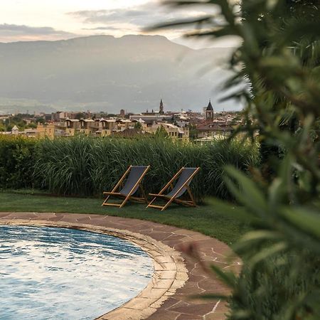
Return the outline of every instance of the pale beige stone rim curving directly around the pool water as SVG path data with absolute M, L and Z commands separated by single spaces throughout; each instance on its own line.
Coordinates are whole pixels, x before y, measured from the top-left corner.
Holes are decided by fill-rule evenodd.
M 129 230 L 65 221 L 1 219 L 0 225 L 32 225 L 85 230 L 114 235 L 141 247 L 154 262 L 154 274 L 149 284 L 129 302 L 99 316 L 96 320 L 146 319 L 188 281 L 188 270 L 181 253 L 148 235 L 133 233 Z

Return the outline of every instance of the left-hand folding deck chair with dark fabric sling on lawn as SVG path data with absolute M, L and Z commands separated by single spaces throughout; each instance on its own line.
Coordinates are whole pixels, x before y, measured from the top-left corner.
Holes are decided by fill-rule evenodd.
M 116 186 L 114 186 L 112 191 L 103 193 L 107 195 L 107 198 L 102 203 L 102 206 L 115 206 L 115 207 L 122 208 L 129 200 L 148 203 L 148 200 L 146 198 L 146 193 L 144 193 L 144 189 L 142 188 L 141 182 L 146 174 L 146 171 L 148 171 L 149 168 L 150 166 L 129 166 L 128 170 L 124 173 L 124 175 L 116 184 Z M 124 183 L 124 179 L 126 177 L 127 177 L 127 181 L 125 181 Z M 118 188 L 121 188 L 121 190 L 117 192 Z M 143 197 L 133 196 L 134 193 L 136 193 L 139 188 L 141 190 Z M 117 198 L 124 198 L 124 201 L 122 201 L 122 203 L 107 203 L 107 201 L 111 196 L 114 196 Z

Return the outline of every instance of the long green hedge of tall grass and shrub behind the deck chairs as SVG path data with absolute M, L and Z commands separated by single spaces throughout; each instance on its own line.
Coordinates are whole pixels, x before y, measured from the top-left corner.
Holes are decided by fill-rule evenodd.
M 0 136 L 1 137 L 1 136 Z M 146 191 L 157 192 L 181 168 L 200 166 L 192 188 L 198 201 L 228 198 L 226 164 L 248 171 L 259 162 L 257 146 L 233 142 L 182 144 L 171 139 L 120 139 L 78 136 L 63 139 L 0 138 L 2 188 L 43 188 L 51 193 L 97 196 L 110 190 L 132 165 L 151 165 Z

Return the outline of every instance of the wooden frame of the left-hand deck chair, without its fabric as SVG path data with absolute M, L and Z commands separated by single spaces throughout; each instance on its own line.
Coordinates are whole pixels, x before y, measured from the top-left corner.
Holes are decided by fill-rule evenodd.
M 107 198 L 105 198 L 105 201 L 102 203 L 102 206 L 114 206 L 114 207 L 119 207 L 123 208 L 123 206 L 127 203 L 127 201 L 132 200 L 132 201 L 137 201 L 139 203 L 148 203 L 148 198 L 146 198 L 146 193 L 144 192 L 144 188 L 142 188 L 142 179 L 146 175 L 146 172 L 149 170 L 150 166 L 146 166 L 146 169 L 144 170 L 144 173 L 140 176 L 139 180 L 137 183 L 132 187 L 131 191 L 127 195 L 124 195 L 122 193 L 117 192 L 117 188 L 121 187 L 123 185 L 124 179 L 127 177 L 129 172 L 131 171 L 133 166 L 129 166 L 127 171 L 124 173 L 122 178 L 119 180 L 119 182 L 114 186 L 111 192 L 104 192 L 103 194 L 107 195 Z M 142 191 L 142 196 L 143 197 L 134 197 L 132 196 L 132 193 L 135 193 L 137 190 L 136 188 L 140 188 Z M 109 198 L 111 196 L 117 197 L 117 198 L 124 198 L 124 201 L 122 203 L 107 203 Z

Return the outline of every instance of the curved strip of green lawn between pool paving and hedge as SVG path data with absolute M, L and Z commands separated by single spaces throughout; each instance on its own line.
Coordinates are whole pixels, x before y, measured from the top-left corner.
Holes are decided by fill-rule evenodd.
M 127 203 L 122 209 L 102 207 L 101 204 L 102 200 L 97 198 L 63 198 L 23 192 L 0 192 L 0 211 L 2 212 L 95 213 L 137 218 L 196 230 L 228 245 L 249 229 L 247 225 L 208 205 L 197 208 L 173 205 L 161 212 L 156 209 L 146 209 L 144 205 L 135 203 Z

